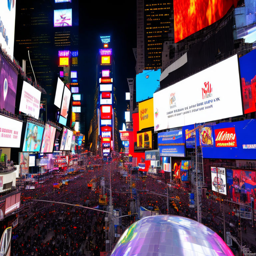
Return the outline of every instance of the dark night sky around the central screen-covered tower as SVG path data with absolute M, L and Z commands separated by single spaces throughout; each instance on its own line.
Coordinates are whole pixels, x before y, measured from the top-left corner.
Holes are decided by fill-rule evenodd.
M 115 61 L 115 88 L 118 129 L 122 129 L 126 110 L 127 78 L 136 75 L 136 1 L 90 1 L 79 6 L 79 73 L 80 88 L 86 106 L 86 132 L 93 117 L 93 97 L 96 84 L 96 55 L 102 47 L 100 35 L 111 35 Z

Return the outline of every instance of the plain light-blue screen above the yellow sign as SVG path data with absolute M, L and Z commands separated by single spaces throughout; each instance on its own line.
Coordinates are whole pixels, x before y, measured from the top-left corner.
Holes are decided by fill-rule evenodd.
M 143 70 L 136 75 L 136 102 L 152 98 L 154 92 L 160 87 L 161 69 Z

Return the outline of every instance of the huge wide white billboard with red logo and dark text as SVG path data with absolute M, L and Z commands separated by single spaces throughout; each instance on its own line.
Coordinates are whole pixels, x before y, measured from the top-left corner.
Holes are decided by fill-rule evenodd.
M 237 55 L 154 93 L 155 131 L 242 114 Z

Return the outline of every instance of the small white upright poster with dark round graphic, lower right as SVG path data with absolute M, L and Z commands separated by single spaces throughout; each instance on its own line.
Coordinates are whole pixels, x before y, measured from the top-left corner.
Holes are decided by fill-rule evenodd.
M 218 178 L 217 178 L 218 175 Z M 227 195 L 225 168 L 211 167 L 212 190 Z

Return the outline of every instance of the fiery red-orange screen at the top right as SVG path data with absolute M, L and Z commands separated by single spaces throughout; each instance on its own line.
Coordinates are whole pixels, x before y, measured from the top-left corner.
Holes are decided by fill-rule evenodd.
M 238 0 L 174 0 L 175 43 L 221 19 Z

